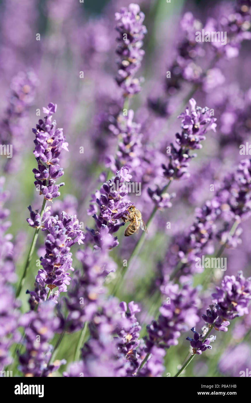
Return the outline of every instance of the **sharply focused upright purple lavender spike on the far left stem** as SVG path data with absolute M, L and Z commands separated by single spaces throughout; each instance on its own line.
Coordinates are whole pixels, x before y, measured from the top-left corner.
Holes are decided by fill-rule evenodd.
M 51 202 L 54 197 L 60 196 L 58 189 L 64 185 L 64 183 L 54 185 L 55 179 L 64 174 L 58 164 L 58 157 L 62 150 L 68 151 L 63 129 L 56 129 L 56 121 L 52 122 L 52 115 L 56 112 L 56 108 L 56 104 L 52 103 L 48 104 L 48 108 L 43 108 L 47 116 L 44 120 L 39 119 L 36 129 L 32 129 L 36 135 L 33 154 L 38 163 L 37 169 L 33 169 L 36 179 L 34 183 L 36 187 L 39 187 L 40 194 Z

